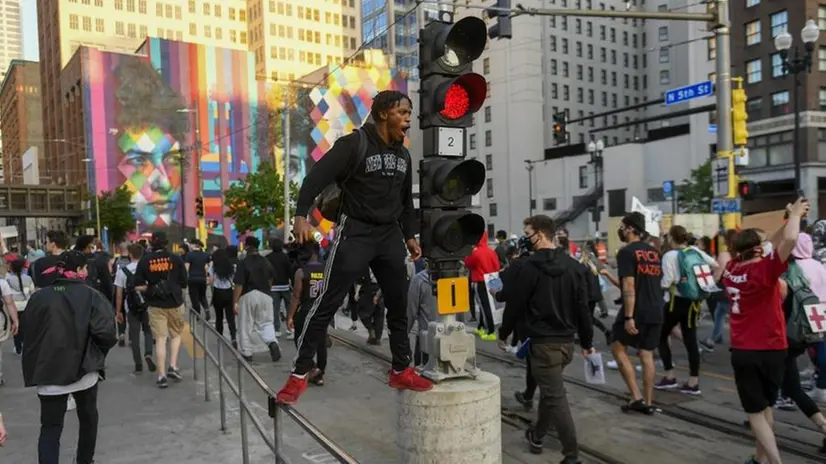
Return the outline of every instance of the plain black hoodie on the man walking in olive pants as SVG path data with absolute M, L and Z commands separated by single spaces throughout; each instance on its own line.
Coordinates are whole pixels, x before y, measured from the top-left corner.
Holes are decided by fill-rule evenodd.
M 567 252 L 537 250 L 510 281 L 502 325 L 523 321 L 532 343 L 572 343 L 579 333 L 583 349 L 593 347 L 594 325 L 588 305 L 586 270 Z

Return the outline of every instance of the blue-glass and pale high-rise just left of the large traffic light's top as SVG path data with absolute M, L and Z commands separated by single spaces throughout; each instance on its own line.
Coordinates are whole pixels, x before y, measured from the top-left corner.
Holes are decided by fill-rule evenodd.
M 419 29 L 436 18 L 439 10 L 452 10 L 452 7 L 446 2 L 437 5 L 416 0 L 360 1 L 364 43 L 383 50 L 390 57 L 391 66 L 406 72 L 411 79 L 418 79 Z

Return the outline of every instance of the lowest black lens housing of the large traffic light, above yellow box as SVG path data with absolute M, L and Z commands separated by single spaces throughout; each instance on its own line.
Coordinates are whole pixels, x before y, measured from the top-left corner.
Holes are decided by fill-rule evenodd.
M 466 210 L 422 209 L 422 254 L 433 261 L 463 260 L 485 233 L 485 218 Z

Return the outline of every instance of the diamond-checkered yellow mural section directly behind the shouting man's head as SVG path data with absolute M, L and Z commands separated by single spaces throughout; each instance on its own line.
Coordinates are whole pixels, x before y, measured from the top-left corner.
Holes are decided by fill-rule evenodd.
M 387 66 L 333 68 L 325 80 L 326 86 L 299 91 L 299 114 L 292 117 L 290 178 L 299 184 L 336 139 L 367 121 L 378 92 L 407 93 L 406 77 Z M 279 160 L 281 156 L 278 153 Z M 283 162 L 279 162 L 279 170 L 283 170 Z M 323 234 L 329 235 L 333 227 L 330 221 L 318 211 L 313 212 L 313 220 Z

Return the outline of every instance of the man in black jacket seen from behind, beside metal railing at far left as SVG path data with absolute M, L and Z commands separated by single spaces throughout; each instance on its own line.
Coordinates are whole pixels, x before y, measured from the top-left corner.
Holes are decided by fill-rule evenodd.
M 23 379 L 40 397 L 41 464 L 57 464 L 69 395 L 77 401 L 78 464 L 94 462 L 97 443 L 97 384 L 106 355 L 117 342 L 109 298 L 84 284 L 87 257 L 65 252 L 55 279 L 32 294 L 23 317 Z

